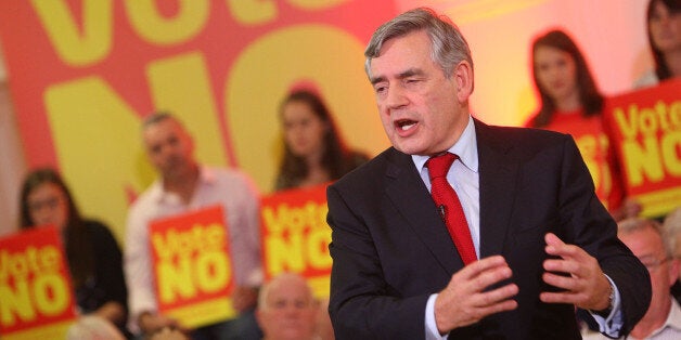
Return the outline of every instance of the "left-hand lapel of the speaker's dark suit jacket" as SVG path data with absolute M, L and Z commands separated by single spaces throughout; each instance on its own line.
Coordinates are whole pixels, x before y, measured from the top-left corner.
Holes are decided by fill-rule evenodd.
M 437 213 L 411 157 L 396 149 L 391 151 L 386 169 L 386 195 L 416 237 L 451 275 L 463 267 L 463 261 L 454 248 L 447 226 Z

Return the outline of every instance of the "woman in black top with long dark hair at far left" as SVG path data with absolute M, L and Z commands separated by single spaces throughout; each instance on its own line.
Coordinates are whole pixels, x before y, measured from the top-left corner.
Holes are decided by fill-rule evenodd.
M 21 228 L 54 225 L 61 231 L 79 314 L 101 317 L 128 335 L 123 256 L 108 227 L 82 218 L 66 183 L 48 168 L 26 175 L 21 210 Z

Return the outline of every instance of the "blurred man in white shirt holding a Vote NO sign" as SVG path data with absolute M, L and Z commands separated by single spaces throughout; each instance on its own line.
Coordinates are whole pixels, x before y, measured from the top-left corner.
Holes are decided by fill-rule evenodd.
M 236 288 L 234 318 L 191 331 L 198 339 L 257 339 L 260 331 L 253 315 L 260 269 L 259 204 L 250 180 L 241 171 L 200 166 L 194 142 L 183 125 L 167 113 L 147 117 L 142 139 L 149 159 L 159 172 L 130 208 L 126 234 L 125 270 L 130 288 L 132 321 L 144 334 L 165 327 L 183 329 L 176 319 L 157 313 L 149 246 L 149 224 L 170 217 L 221 205 L 229 226 Z

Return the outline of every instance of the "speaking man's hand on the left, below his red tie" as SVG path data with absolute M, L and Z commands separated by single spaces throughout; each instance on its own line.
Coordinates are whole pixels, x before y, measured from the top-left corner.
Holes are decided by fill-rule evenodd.
M 517 302 L 511 300 L 518 292 L 515 284 L 484 291 L 511 275 L 511 267 L 500 256 L 472 262 L 452 275 L 435 300 L 435 322 L 439 332 L 447 334 L 490 314 L 516 309 Z

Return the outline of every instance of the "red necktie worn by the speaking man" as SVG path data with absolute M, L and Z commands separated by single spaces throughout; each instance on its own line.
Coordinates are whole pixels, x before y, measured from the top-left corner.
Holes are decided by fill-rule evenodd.
M 459 250 L 459 254 L 464 264 L 468 264 L 477 259 L 475 247 L 471 238 L 471 231 L 466 217 L 463 213 L 461 201 L 454 189 L 447 182 L 447 172 L 459 156 L 446 153 L 431 157 L 426 162 L 431 176 L 431 195 L 437 206 L 451 239 Z

